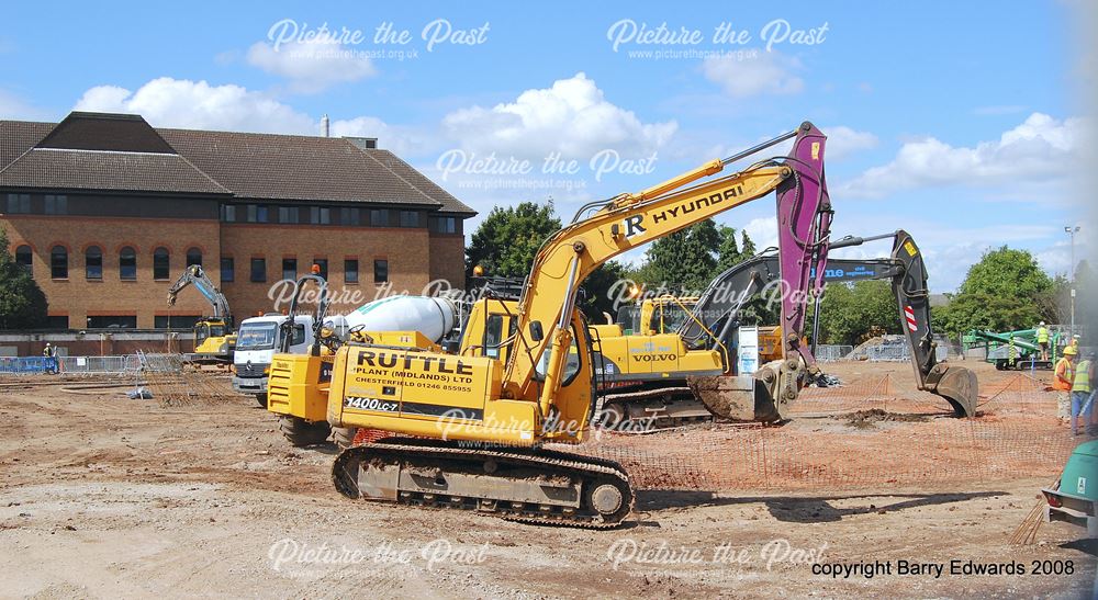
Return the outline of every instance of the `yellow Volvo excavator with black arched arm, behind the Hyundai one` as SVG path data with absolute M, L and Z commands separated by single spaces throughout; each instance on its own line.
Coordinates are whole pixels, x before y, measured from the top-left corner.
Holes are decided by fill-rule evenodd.
M 893 239 L 887 258 L 849 260 L 826 257 L 825 283 L 889 280 L 897 315 L 911 350 L 916 382 L 945 399 L 960 417 L 975 415 L 977 382 L 972 371 L 939 363 L 930 322 L 926 263 L 910 234 L 898 230 L 874 237 L 847 237 L 830 250 L 866 241 Z M 626 335 L 621 325 L 594 326 L 598 339 L 595 369 L 603 375 L 600 423 L 621 432 L 651 432 L 694 421 L 713 420 L 716 414 L 729 420 L 766 420 L 746 401 L 742 389 L 750 374 L 736 373 L 736 332 L 743 305 L 758 294 L 781 291 L 781 256 L 765 251 L 720 273 L 697 298 L 660 298 L 660 306 L 677 307 L 673 330 L 656 322 L 658 310 L 642 312 L 652 322 L 640 322 L 648 335 Z M 817 309 L 819 303 L 816 304 Z M 659 306 L 657 306 L 659 307 Z M 620 319 L 619 319 L 620 320 Z M 814 319 L 818 327 L 819 318 Z M 662 324 L 666 325 L 666 320 Z M 778 328 L 780 330 L 781 328 Z M 818 332 L 817 332 L 818 333 Z M 813 336 L 813 340 L 818 338 Z M 701 397 L 726 401 L 703 403 Z M 720 408 L 714 411 L 716 404 Z M 770 415 L 776 420 L 777 415 Z

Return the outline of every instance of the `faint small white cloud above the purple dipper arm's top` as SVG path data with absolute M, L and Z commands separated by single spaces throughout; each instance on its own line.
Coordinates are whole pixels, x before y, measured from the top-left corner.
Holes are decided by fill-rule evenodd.
M 733 98 L 799 93 L 805 82 L 794 71 L 800 68 L 799 60 L 777 52 L 758 53 L 750 58 L 709 56 L 702 63 L 705 78 Z

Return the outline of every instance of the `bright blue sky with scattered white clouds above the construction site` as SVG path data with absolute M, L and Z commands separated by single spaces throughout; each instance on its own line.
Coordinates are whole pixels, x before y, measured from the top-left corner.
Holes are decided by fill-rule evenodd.
M 1072 172 L 1090 115 L 1076 87 L 1093 79 L 1071 3 L 197 7 L 74 5 L 65 20 L 8 7 L 0 117 L 79 107 L 315 134 L 326 113 L 335 135 L 379 137 L 482 215 L 550 195 L 571 215 L 807 118 L 830 136 L 836 233 L 911 230 L 935 291 L 1002 244 L 1064 272 L 1063 227 L 1084 219 Z M 384 23 L 393 39 L 374 43 Z M 324 24 L 346 43 L 290 39 Z M 715 43 L 718 29 L 748 39 Z M 545 172 L 554 156 L 575 172 Z M 760 201 L 719 220 L 765 244 L 771 213 Z

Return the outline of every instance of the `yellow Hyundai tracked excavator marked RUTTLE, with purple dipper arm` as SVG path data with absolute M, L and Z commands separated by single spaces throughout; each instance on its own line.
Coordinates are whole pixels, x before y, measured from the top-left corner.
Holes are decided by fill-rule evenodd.
M 714 177 L 788 139 L 787 156 Z M 783 359 L 763 365 L 744 395 L 766 405 L 760 411 L 781 415 L 819 372 L 799 340 L 805 298 L 822 287 L 811 270 L 822 268 L 828 240 L 821 233 L 831 218 L 825 144 L 824 134 L 804 123 L 642 192 L 587 204 L 541 246 L 517 307 L 478 301 L 459 353 L 417 346 L 414 331 L 406 336 L 412 343 L 400 332 L 358 331 L 333 354 L 277 354 L 270 401 L 332 427 L 395 434 L 339 453 L 332 477 L 348 498 L 616 527 L 634 503 L 623 467 L 545 448 L 582 442 L 596 410 L 593 341 L 575 308 L 580 285 L 623 252 L 776 191 L 780 226 L 787 229 L 780 245 L 791 257 L 782 270 L 793 292 L 782 305 L 788 335 Z

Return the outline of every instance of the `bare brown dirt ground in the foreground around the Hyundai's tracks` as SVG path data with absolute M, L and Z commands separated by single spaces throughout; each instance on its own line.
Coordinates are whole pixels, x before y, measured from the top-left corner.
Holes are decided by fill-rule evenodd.
M 829 371 L 888 372 L 896 387 L 914 387 L 906 363 Z M 1008 376 L 986 365 L 978 374 L 991 388 Z M 1037 544 L 1008 543 L 1055 469 L 918 488 L 641 490 L 625 527 L 591 532 L 350 502 L 328 479 L 334 449 L 290 448 L 247 397 L 166 408 L 117 389 L 75 395 L 53 380 L 29 382 L 0 380 L 4 597 L 1079 598 L 1094 589 L 1098 546 L 1080 530 L 1044 524 Z M 905 575 L 900 561 L 944 569 Z M 825 573 L 874 563 L 890 570 Z M 999 563 L 1024 575 L 964 574 Z M 1052 574 L 1032 574 L 1034 565 Z

